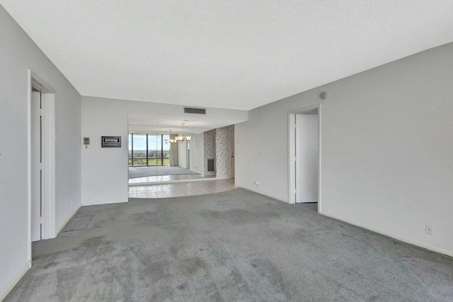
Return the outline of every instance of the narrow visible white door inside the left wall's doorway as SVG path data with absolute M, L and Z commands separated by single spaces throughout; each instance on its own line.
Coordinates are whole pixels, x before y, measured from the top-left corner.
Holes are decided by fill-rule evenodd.
M 31 240 L 41 240 L 41 93 L 31 93 Z

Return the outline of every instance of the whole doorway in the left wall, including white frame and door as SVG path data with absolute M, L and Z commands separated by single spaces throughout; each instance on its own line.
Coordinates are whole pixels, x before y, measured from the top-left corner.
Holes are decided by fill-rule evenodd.
M 28 71 L 28 225 L 31 243 L 54 238 L 55 91 Z

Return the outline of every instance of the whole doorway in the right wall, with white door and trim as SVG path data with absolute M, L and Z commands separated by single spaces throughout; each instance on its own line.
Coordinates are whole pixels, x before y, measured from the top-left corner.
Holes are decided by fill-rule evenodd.
M 320 105 L 289 112 L 289 203 L 320 203 Z

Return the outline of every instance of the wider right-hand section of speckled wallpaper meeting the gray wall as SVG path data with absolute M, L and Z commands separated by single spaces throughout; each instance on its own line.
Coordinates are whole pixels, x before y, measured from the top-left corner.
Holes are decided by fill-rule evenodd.
M 234 131 L 234 124 L 216 129 L 215 153 L 216 153 L 216 176 L 228 178 L 231 170 L 230 139 Z

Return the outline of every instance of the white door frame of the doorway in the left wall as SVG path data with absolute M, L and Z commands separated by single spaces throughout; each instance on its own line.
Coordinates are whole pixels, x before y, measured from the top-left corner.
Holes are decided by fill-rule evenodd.
M 42 239 L 55 238 L 55 90 L 31 69 L 28 69 L 28 261 L 31 265 L 31 91 L 32 87 L 42 95 Z

